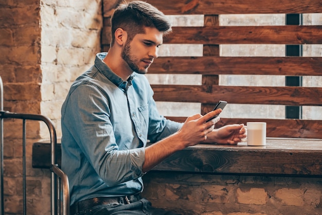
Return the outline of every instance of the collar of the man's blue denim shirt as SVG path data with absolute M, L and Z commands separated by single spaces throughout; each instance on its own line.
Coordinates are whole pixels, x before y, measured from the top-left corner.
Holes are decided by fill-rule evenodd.
M 111 68 L 103 62 L 103 59 L 108 55 L 108 52 L 97 53 L 95 58 L 95 66 L 98 70 L 110 81 L 112 81 L 116 86 L 127 91 L 128 88 L 132 85 L 132 80 L 134 78 L 134 73 L 128 78 L 127 81 L 121 79 L 118 75 L 113 73 Z

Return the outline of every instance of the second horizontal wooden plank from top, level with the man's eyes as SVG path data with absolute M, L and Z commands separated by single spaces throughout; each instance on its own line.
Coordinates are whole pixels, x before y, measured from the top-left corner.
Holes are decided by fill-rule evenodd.
M 164 43 L 322 44 L 321 32 L 322 25 L 173 27 Z

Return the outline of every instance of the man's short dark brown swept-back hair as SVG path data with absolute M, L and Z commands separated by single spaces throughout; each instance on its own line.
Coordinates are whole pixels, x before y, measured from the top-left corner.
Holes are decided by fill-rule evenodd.
M 171 23 L 165 14 L 149 3 L 141 1 L 120 4 L 112 15 L 111 26 L 111 46 L 114 44 L 114 33 L 118 28 L 127 31 L 129 42 L 136 34 L 144 33 L 145 27 L 155 27 L 164 34 L 171 31 Z

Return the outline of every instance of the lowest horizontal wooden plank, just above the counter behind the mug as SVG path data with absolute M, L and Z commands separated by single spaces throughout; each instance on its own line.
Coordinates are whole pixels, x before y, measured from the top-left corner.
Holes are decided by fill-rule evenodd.
M 167 116 L 166 118 L 178 122 L 186 120 L 186 117 Z M 226 124 L 246 124 L 258 121 L 267 123 L 267 137 L 322 139 L 322 120 L 221 118 L 216 128 Z

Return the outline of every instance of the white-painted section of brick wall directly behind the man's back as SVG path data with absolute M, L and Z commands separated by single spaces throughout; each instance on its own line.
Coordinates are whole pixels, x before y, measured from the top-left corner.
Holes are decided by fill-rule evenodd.
M 41 113 L 61 136 L 60 108 L 70 84 L 94 63 L 100 50 L 101 2 L 41 2 Z

